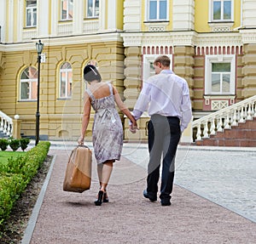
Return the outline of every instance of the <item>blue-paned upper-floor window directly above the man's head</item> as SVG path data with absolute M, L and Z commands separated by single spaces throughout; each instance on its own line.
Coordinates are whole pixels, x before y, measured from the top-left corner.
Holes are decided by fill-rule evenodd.
M 168 2 L 166 0 L 148 0 L 147 20 L 163 21 L 167 20 Z

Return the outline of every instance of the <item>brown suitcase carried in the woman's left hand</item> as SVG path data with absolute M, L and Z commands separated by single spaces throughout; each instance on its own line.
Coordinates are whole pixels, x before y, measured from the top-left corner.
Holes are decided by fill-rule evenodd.
M 82 193 L 90 189 L 91 150 L 86 145 L 73 149 L 67 162 L 63 190 Z

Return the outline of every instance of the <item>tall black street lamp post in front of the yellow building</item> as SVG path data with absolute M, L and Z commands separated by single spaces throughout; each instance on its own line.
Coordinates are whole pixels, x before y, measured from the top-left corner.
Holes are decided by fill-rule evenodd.
M 39 112 L 39 95 L 40 95 L 40 64 L 41 64 L 41 54 L 44 48 L 44 43 L 41 43 L 39 40 L 36 43 L 36 48 L 38 52 L 38 101 L 37 101 L 37 113 L 36 113 L 36 145 L 38 145 L 39 141 L 39 120 L 40 120 L 40 112 Z

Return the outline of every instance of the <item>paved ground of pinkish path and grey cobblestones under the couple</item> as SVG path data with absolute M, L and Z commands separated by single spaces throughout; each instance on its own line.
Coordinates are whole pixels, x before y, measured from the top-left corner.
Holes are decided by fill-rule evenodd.
M 90 190 L 62 190 L 74 146 L 51 142 L 54 162 L 23 244 L 255 243 L 255 148 L 179 145 L 172 206 L 161 207 L 143 198 L 147 145 L 125 144 L 108 186 L 110 202 L 96 207 L 95 163 Z

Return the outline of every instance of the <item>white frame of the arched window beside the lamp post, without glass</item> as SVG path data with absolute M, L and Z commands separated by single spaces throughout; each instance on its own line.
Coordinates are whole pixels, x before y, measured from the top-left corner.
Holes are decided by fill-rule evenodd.
M 32 68 L 35 73 L 33 75 L 33 78 L 28 78 L 28 79 L 22 79 L 22 75 L 24 72 L 26 72 L 26 70 L 28 71 L 29 68 Z M 28 76 L 27 76 L 28 77 Z M 28 98 L 27 99 L 22 99 L 22 83 L 27 82 L 29 84 L 28 86 Z M 36 95 L 35 98 L 32 98 L 32 93 L 33 93 L 33 84 L 35 84 L 35 89 L 36 89 Z M 20 73 L 20 101 L 37 101 L 38 100 L 38 69 L 33 67 L 33 66 L 27 66 L 26 68 L 23 69 L 23 71 L 21 71 Z

